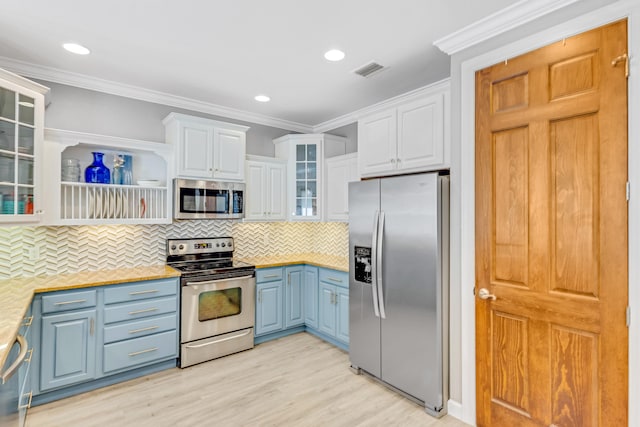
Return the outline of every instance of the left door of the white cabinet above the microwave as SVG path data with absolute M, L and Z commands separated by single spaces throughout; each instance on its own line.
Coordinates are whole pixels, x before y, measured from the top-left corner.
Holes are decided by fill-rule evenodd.
M 213 177 L 213 129 L 197 123 L 180 125 L 178 175 Z

